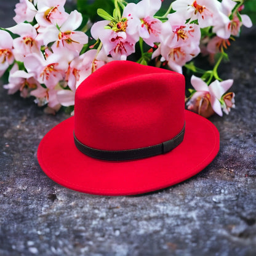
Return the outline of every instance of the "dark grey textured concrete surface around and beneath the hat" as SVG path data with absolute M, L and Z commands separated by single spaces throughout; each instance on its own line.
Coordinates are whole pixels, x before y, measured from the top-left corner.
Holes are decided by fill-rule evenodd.
M 1 1 L 0 26 L 17 1 Z M 92 196 L 44 175 L 35 154 L 65 113 L 0 89 L 0 255 L 256 255 L 256 30 L 231 46 L 222 78 L 237 108 L 210 119 L 220 153 L 200 174 L 142 196 Z

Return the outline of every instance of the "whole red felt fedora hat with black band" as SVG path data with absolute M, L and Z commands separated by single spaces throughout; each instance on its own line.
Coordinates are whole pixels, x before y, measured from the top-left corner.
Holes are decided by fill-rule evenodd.
M 90 194 L 160 190 L 204 169 L 219 134 L 185 110 L 185 79 L 160 68 L 113 61 L 76 90 L 74 116 L 42 139 L 38 161 L 60 185 Z

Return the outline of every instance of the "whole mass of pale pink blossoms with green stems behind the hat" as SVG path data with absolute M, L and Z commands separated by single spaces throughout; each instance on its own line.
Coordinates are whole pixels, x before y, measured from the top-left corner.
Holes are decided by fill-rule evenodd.
M 217 68 L 230 39 L 239 36 L 242 25 L 252 26 L 240 14 L 243 2 L 176 0 L 159 17 L 161 0 L 114 0 L 113 14 L 98 9 L 103 20 L 84 33 L 79 30 L 82 15 L 77 10 L 68 14 L 65 0 L 20 0 L 17 25 L 0 30 L 0 76 L 9 72 L 4 86 L 9 94 L 34 96 L 39 106 L 47 105 L 46 111 L 54 113 L 74 105 L 74 93 L 87 76 L 107 62 L 127 60 L 136 46 L 141 51 L 138 63 L 153 60 L 178 73 L 183 66 L 190 68 L 188 63 L 200 53 L 217 55 L 213 70 L 191 77 L 194 89 L 187 105 L 202 116 L 222 116 L 234 107 L 234 93 L 226 93 L 233 80 L 222 81 Z M 198 73 L 194 66 L 191 70 Z

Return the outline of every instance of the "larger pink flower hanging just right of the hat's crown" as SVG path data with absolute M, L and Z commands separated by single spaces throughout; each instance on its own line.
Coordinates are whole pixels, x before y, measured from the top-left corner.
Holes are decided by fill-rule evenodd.
M 214 110 L 214 112 L 219 116 L 222 116 L 222 95 L 225 94 L 228 89 L 230 89 L 233 84 L 233 80 L 228 79 L 222 82 L 215 80 L 209 86 L 207 86 L 206 82 L 202 81 L 201 78 L 192 76 L 191 84 L 197 92 L 192 95 L 187 103 L 188 109 L 197 111 L 198 113 L 206 116 L 206 114 L 210 113 L 210 110 L 208 107 L 205 108 L 207 104 L 205 105 L 202 103 L 207 102 L 208 100 L 212 110 Z M 202 106 L 204 106 L 204 111 L 202 111 Z M 225 103 L 223 104 L 223 108 L 226 108 Z

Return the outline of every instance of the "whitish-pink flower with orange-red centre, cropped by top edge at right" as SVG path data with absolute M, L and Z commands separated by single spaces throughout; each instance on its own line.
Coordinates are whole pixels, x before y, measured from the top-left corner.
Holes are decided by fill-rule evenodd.
M 198 20 L 200 28 L 212 26 L 220 11 L 218 0 L 176 0 L 172 8 L 185 20 Z

